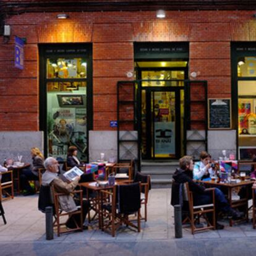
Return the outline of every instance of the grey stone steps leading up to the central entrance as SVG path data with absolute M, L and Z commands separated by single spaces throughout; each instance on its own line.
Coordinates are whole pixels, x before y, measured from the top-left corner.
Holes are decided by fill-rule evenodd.
M 171 187 L 173 174 L 179 168 L 179 161 L 143 160 L 141 172 L 149 174 L 153 188 Z

